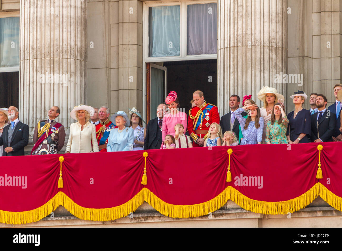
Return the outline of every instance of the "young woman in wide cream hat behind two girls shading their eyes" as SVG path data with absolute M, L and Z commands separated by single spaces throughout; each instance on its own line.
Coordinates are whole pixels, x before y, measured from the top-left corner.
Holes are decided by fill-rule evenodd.
M 264 119 L 264 129 L 262 133 L 262 142 L 265 143 L 266 139 L 266 125 L 268 121 L 271 120 L 272 111 L 274 109 L 274 104 L 277 100 L 282 100 L 284 102 L 285 98 L 283 95 L 278 93 L 276 88 L 268 87 L 267 85 L 262 87 L 262 89 L 257 94 L 258 99 L 263 101 L 263 107 L 260 108 L 261 116 Z

